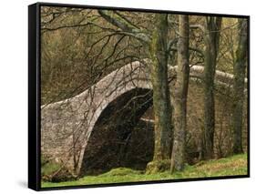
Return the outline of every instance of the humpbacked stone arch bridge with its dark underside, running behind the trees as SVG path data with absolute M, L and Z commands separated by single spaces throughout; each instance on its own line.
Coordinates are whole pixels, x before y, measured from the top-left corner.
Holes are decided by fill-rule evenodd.
M 106 154 L 111 139 L 127 139 L 128 132 L 152 106 L 152 86 L 144 64 L 145 61 L 132 62 L 75 97 L 42 106 L 41 154 L 75 175 L 86 174 L 87 166 L 98 162 L 113 166 L 108 157 L 115 158 L 120 148 L 113 152 L 114 156 L 109 154 L 101 161 L 92 158 Z M 175 77 L 176 68 L 169 66 L 170 80 Z M 202 73 L 203 66 L 190 67 L 190 77 L 201 79 Z M 233 76 L 217 71 L 215 81 L 231 87 Z

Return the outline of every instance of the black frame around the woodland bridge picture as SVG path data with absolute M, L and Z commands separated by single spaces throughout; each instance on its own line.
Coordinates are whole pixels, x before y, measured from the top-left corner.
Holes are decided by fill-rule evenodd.
M 210 15 L 225 16 L 235 18 L 246 18 L 248 21 L 248 149 L 247 149 L 247 175 L 210 177 L 197 179 L 170 179 L 170 180 L 154 180 L 154 181 L 138 181 L 126 183 L 109 183 L 96 185 L 66 186 L 54 188 L 41 187 L 41 34 L 40 34 L 40 8 L 41 6 L 57 6 L 57 7 L 73 7 L 73 8 L 92 8 L 92 9 L 108 9 L 120 11 L 136 11 L 148 13 L 168 13 L 175 15 Z M 155 183 L 171 183 L 212 179 L 238 179 L 250 178 L 250 16 L 249 15 L 228 15 L 228 14 L 210 14 L 197 12 L 178 12 L 169 10 L 154 10 L 127 7 L 110 7 L 97 5 L 71 5 L 71 4 L 55 4 L 55 3 L 36 3 L 28 5 L 28 188 L 34 190 L 53 190 L 53 189 L 84 189 L 95 187 L 113 187 L 124 185 L 143 185 Z

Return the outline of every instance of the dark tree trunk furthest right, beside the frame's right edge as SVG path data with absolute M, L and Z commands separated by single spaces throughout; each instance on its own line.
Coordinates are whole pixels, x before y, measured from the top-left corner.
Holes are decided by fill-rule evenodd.
M 242 153 L 242 109 L 244 100 L 244 77 L 247 54 L 247 20 L 239 19 L 239 45 L 236 51 L 234 64 L 234 103 L 232 115 L 234 154 Z

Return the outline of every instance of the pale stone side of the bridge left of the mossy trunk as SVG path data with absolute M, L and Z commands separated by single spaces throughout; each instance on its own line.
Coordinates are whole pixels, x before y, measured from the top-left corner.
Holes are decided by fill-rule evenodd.
M 118 97 L 150 89 L 148 69 L 133 62 L 76 97 L 41 107 L 42 154 L 80 174 L 88 139 L 102 112 Z

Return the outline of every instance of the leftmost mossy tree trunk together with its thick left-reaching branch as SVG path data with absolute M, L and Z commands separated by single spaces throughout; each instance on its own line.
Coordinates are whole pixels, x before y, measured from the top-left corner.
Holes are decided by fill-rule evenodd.
M 168 82 L 168 15 L 155 14 L 152 36 L 131 26 L 128 21 L 108 11 L 98 11 L 109 23 L 122 29 L 127 36 L 133 36 L 148 46 L 151 82 L 153 87 L 153 106 L 155 116 L 155 150 L 153 161 L 148 168 L 159 171 L 169 167 L 172 145 L 171 106 Z M 160 162 L 159 162 L 160 161 Z M 151 171 L 151 169 L 149 169 Z

